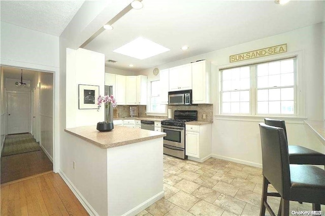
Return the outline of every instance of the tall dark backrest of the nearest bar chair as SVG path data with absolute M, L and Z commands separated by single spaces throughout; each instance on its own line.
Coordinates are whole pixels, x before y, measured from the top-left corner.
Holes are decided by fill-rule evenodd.
M 289 196 L 290 169 L 283 128 L 259 124 L 262 143 L 263 175 L 284 198 Z

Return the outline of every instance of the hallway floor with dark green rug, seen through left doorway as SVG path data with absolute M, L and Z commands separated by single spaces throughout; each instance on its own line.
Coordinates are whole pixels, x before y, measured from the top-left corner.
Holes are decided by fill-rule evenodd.
M 6 136 L 1 157 L 1 184 L 53 170 L 52 162 L 39 143 L 30 137 L 30 134 Z

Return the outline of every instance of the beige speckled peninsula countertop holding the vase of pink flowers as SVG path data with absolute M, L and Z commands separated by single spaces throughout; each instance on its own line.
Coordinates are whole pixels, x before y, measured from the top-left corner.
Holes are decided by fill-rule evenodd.
M 122 127 L 118 125 L 114 125 L 114 129 L 108 132 L 96 130 L 95 125 L 67 128 L 64 129 L 64 131 L 82 138 L 101 149 L 109 149 L 166 136 L 166 133 L 163 132 Z

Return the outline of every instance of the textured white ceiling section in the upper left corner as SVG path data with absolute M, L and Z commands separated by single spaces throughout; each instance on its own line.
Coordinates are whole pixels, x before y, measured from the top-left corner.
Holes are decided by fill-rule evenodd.
M 59 36 L 84 1 L 1 1 L 1 21 Z

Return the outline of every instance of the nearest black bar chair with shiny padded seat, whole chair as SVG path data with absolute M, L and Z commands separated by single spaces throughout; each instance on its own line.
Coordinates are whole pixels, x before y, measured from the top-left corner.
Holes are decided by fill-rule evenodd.
M 262 142 L 263 194 L 260 215 L 265 210 L 275 215 L 267 203 L 268 196 L 281 197 L 278 215 L 289 215 L 289 201 L 313 203 L 313 210 L 325 204 L 325 170 L 289 164 L 288 146 L 283 128 L 259 124 Z M 278 193 L 268 193 L 268 185 Z

